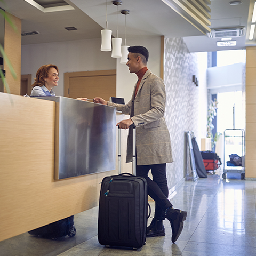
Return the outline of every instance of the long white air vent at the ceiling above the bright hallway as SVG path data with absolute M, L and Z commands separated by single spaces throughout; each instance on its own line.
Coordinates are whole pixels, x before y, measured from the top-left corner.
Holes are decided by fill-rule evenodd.
M 245 35 L 245 27 L 212 29 L 211 32 L 206 34 L 210 38 L 241 37 Z

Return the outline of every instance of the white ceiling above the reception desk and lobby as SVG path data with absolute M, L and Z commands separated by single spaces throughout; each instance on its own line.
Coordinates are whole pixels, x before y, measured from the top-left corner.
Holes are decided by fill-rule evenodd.
M 41 0 L 41 2 L 49 0 Z M 22 45 L 48 42 L 72 41 L 100 38 L 100 30 L 106 28 L 105 0 L 65 0 L 74 10 L 44 13 L 25 0 L 5 0 L 0 7 L 22 20 L 22 32 L 38 31 L 40 34 L 22 36 Z M 254 0 L 242 0 L 243 3 L 229 5 L 231 0 L 211 0 L 210 28 L 250 28 Z M 249 29 L 246 36 L 237 38 L 236 46 L 217 47 L 219 39 L 208 38 L 161 0 L 122 0 L 117 7 L 108 1 L 108 29 L 116 37 L 118 19 L 118 37 L 124 38 L 125 16 L 121 10 L 128 9 L 126 15 L 126 43 L 135 37 L 184 37 L 190 52 L 245 49 L 247 45 L 256 45 L 250 41 Z M 68 31 L 65 27 L 75 27 Z M 248 44 L 249 43 L 249 44 Z

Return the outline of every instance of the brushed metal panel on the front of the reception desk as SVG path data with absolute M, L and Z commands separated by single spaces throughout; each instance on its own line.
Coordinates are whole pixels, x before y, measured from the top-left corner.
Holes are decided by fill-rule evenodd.
M 54 179 L 116 169 L 116 108 L 66 97 L 56 102 Z

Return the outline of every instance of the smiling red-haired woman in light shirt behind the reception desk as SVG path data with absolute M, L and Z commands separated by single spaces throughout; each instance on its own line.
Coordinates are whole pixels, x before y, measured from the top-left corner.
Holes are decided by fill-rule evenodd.
M 59 69 L 56 65 L 46 64 L 37 70 L 35 82 L 31 87 L 33 90 L 30 94 L 31 97 L 35 96 L 55 96 L 52 90 L 58 86 Z M 87 98 L 77 98 L 77 100 L 87 101 Z

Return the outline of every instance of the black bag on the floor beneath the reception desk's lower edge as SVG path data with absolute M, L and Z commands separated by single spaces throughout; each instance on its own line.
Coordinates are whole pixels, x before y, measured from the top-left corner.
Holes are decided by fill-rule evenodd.
M 28 234 L 50 239 L 57 239 L 67 235 L 70 237 L 75 236 L 76 228 L 74 227 L 74 215 L 28 231 Z

